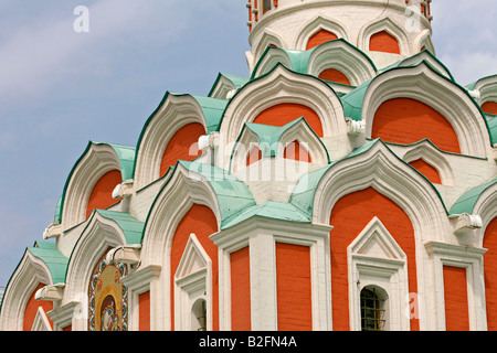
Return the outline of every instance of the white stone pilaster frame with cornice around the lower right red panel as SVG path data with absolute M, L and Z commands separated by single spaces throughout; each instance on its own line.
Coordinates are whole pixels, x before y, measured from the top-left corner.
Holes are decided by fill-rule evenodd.
M 451 245 L 438 242 L 426 242 L 426 250 L 433 261 L 434 286 L 431 308 L 436 318 L 436 330 L 445 331 L 445 297 L 443 266 L 466 269 L 469 330 L 487 329 L 485 304 L 485 279 L 483 256 L 487 249 Z

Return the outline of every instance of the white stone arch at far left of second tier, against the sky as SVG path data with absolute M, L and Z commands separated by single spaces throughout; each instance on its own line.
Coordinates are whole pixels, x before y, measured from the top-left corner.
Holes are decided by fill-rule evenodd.
M 64 188 L 62 229 L 86 220 L 86 207 L 94 185 L 113 170 L 120 172 L 119 158 L 114 148 L 107 143 L 89 142 Z

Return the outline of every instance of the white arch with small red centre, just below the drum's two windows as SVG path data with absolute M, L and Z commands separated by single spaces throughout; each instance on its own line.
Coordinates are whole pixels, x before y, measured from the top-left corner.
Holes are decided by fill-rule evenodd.
M 324 43 L 313 51 L 308 74 L 319 76 L 327 68 L 340 71 L 350 79 L 352 86 L 359 86 L 377 75 L 372 61 L 343 40 Z

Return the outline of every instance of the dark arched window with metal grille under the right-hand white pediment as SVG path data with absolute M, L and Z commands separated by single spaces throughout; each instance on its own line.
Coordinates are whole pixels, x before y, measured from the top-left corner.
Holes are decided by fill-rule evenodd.
M 377 288 L 361 290 L 361 329 L 362 331 L 382 331 L 385 328 L 384 298 L 377 293 Z

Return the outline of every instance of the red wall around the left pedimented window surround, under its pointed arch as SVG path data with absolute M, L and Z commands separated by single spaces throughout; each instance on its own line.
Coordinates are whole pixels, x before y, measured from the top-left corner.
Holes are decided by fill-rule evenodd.
M 209 236 L 218 232 L 218 222 L 212 211 L 203 205 L 194 204 L 179 223 L 171 247 L 171 328 L 175 330 L 175 274 L 183 255 L 184 247 L 191 233 L 194 233 L 200 244 L 212 261 L 213 289 L 213 327 L 219 330 L 219 276 L 218 276 L 218 247 Z

